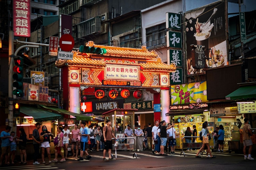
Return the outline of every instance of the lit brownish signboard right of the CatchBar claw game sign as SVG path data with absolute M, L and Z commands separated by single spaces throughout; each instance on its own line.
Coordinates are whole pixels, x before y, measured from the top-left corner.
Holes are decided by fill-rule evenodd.
M 210 108 L 211 117 L 219 116 L 237 116 L 237 107 L 221 107 L 221 108 Z

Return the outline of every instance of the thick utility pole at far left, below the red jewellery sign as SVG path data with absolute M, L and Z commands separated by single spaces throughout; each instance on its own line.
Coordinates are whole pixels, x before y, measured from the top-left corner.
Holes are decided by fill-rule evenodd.
M 9 31 L 9 76 L 8 76 L 8 98 L 9 98 L 9 114 L 8 114 L 8 125 L 11 126 L 12 130 L 13 130 L 13 79 L 12 79 L 12 75 L 13 75 L 13 65 L 14 65 L 14 61 L 13 61 L 13 57 L 11 57 L 11 55 L 14 52 L 14 45 L 13 45 L 13 40 L 14 40 L 14 32 L 13 31 Z M 13 130 L 14 131 L 14 130 Z M 16 131 L 16 130 L 15 130 Z

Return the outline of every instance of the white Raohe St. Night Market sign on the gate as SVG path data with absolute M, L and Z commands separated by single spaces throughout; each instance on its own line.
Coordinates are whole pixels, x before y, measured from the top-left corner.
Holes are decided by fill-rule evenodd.
M 104 78 L 139 80 L 139 66 L 106 64 Z

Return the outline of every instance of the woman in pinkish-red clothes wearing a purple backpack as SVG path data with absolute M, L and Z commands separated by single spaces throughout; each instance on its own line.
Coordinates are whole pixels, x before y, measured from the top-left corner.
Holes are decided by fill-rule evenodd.
M 62 127 L 59 126 L 58 127 L 58 135 L 57 135 L 57 137 L 55 137 L 57 139 L 54 138 L 54 141 L 53 141 L 54 145 L 56 145 L 56 146 L 55 146 L 55 159 L 53 159 L 52 162 L 57 162 L 58 161 L 58 159 L 57 159 L 58 158 L 58 152 L 60 152 L 60 155 L 62 157 L 60 162 L 66 161 L 66 159 L 64 158 L 64 155 L 63 155 L 64 152 L 63 153 L 61 152 L 61 149 L 63 150 L 63 137 L 64 137 L 64 134 L 63 134 L 62 130 L 63 130 Z M 57 140 L 58 143 L 56 142 L 56 140 Z

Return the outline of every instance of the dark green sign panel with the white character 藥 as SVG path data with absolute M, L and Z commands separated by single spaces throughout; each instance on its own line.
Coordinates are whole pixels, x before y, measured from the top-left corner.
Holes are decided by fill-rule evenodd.
M 178 67 L 182 67 L 182 51 L 168 49 L 167 50 L 167 60 L 168 64 L 174 63 Z

